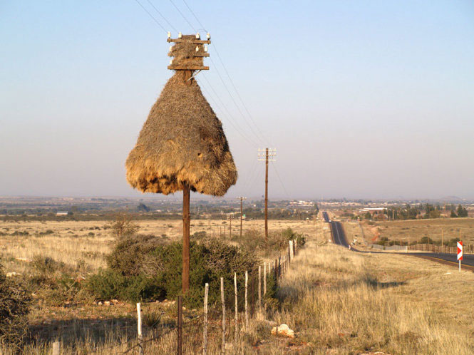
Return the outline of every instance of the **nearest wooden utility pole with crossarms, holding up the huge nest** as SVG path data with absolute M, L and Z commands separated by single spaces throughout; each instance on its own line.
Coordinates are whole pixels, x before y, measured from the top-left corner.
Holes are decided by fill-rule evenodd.
M 174 57 L 175 53 L 180 52 L 182 47 L 195 46 L 188 56 L 180 56 L 179 59 L 173 58 L 170 61 L 168 69 L 181 73 L 180 78 L 186 85 L 191 85 L 194 80 L 194 71 L 207 71 L 208 66 L 204 66 L 204 57 L 208 57 L 207 47 L 210 44 L 210 35 L 207 34 L 207 40 L 201 40 L 199 34 L 182 36 L 181 32 L 178 38 L 171 38 L 168 32 L 168 42 L 175 43 L 170 47 L 168 56 Z M 190 187 L 185 185 L 182 189 L 182 293 L 185 294 L 190 289 Z

